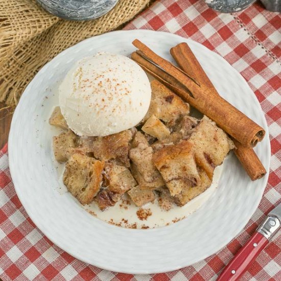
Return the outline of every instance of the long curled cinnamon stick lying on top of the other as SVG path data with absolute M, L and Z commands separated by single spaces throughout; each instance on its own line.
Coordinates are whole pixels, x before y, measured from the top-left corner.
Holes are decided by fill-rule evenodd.
M 265 134 L 263 128 L 250 120 L 237 108 L 229 104 L 221 97 L 213 97 L 212 92 L 210 92 L 208 87 L 205 85 L 199 86 L 183 71 L 171 62 L 156 55 L 139 40 L 134 40 L 133 44 L 141 51 L 140 55 L 142 57 L 156 64 L 156 66 L 160 67 L 162 71 L 174 77 L 179 84 L 188 88 L 193 96 L 191 96 L 190 92 L 187 92 L 184 87 L 178 87 L 178 84 L 175 85 L 166 81 L 166 85 L 169 85 L 172 90 L 178 90 L 178 95 L 210 119 L 214 120 L 219 127 L 237 139 L 241 144 L 253 147 L 257 144 L 257 142 L 262 140 Z M 161 74 L 158 72 L 157 75 L 159 76 Z M 165 79 L 162 78 L 161 80 Z

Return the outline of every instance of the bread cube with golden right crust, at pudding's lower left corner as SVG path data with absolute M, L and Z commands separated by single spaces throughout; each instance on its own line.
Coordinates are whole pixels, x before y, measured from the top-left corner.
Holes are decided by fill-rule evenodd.
M 98 194 L 104 163 L 83 154 L 73 154 L 65 164 L 63 183 L 82 205 Z

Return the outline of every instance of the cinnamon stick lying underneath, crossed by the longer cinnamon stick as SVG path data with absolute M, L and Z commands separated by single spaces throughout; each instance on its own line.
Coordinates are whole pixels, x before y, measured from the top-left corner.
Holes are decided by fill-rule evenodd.
M 204 72 L 204 69 L 188 44 L 180 43 L 173 47 L 170 50 L 170 53 L 184 72 L 193 77 L 193 79 L 200 84 L 204 84 L 209 87 L 209 89 L 212 90 L 213 95 L 219 95 L 217 89 Z M 266 174 L 266 170 L 254 150 L 252 148 L 242 146 L 233 138 L 232 140 L 236 145 L 234 152 L 251 180 L 262 178 Z

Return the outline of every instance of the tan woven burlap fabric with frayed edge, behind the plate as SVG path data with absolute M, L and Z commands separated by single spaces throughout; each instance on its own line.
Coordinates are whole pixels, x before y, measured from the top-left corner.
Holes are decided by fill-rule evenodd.
M 75 43 L 118 28 L 149 0 L 120 0 L 106 15 L 90 21 L 62 20 L 35 0 L 0 0 L 0 102 L 14 107 L 38 70 Z

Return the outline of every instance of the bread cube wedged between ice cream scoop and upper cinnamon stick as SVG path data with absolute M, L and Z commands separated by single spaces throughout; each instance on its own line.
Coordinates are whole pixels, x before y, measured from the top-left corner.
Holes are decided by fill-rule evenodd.
M 189 104 L 183 102 L 180 97 L 159 81 L 153 80 L 151 82 L 151 90 L 151 102 L 145 121 L 155 115 L 158 119 L 172 126 L 181 115 L 189 114 Z

